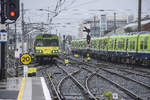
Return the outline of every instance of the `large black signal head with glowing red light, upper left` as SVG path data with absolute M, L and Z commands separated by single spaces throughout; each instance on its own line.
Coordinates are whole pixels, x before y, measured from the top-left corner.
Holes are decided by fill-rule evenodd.
M 9 20 L 17 20 L 19 17 L 19 0 L 6 0 L 6 16 Z

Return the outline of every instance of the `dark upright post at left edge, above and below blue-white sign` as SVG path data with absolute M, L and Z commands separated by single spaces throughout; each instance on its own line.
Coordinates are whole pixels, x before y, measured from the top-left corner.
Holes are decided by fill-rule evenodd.
M 1 25 L 5 24 L 4 4 L 4 0 L 1 0 Z M 5 46 L 6 43 L 1 43 L 0 80 L 6 79 Z

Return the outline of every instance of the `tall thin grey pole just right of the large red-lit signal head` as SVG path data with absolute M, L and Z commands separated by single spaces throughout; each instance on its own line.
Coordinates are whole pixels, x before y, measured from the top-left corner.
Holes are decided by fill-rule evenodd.
M 21 11 L 22 11 L 22 52 L 24 52 L 24 4 L 21 3 Z

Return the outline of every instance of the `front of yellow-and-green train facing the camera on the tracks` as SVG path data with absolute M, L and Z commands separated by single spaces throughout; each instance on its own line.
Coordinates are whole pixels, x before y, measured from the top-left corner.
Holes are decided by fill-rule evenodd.
M 59 57 L 60 46 L 59 37 L 55 34 L 40 34 L 35 37 L 34 56 L 35 60 L 42 63 L 43 61 L 52 61 L 54 57 Z

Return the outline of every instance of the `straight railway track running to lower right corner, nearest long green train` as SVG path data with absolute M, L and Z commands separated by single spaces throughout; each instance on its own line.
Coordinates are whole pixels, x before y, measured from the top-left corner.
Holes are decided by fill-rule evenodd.
M 78 61 L 78 62 L 80 64 L 86 65 L 85 68 L 89 66 L 87 70 L 92 69 L 92 68 L 98 69 L 97 70 L 98 76 L 109 81 L 111 84 L 123 90 L 126 94 L 131 96 L 132 99 L 148 100 L 148 98 L 150 98 L 149 97 L 150 88 L 148 84 L 140 82 L 139 80 L 133 79 L 129 76 L 124 76 L 123 72 L 119 73 L 115 71 L 114 69 L 106 69 L 107 67 L 106 68 L 98 67 L 98 66 L 95 66 L 95 64 L 84 63 L 82 61 Z

